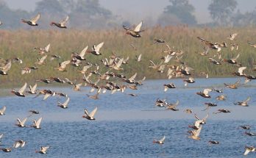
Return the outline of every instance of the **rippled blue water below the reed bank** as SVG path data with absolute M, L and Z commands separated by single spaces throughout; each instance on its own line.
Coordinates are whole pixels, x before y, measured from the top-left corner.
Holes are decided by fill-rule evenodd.
M 223 87 L 223 82 L 232 83 L 237 79 L 196 79 L 196 83 L 184 88 L 180 79 L 173 79 L 177 89 L 163 92 L 163 84 L 170 80 L 147 81 L 139 90 L 127 90 L 137 97 L 123 93 L 100 95 L 99 100 L 85 96 L 88 88 L 74 92 L 70 87 L 53 87 L 52 90 L 68 93 L 71 98 L 68 109 L 57 107 L 57 101 L 66 98 L 51 97 L 42 101 L 43 96 L 19 98 L 7 96 L 0 98 L 0 107 L 6 106 L 6 115 L 0 116 L 0 133 L 4 134 L 1 146 L 10 147 L 15 140 L 26 140 L 24 148 L 13 149 L 10 153 L 0 152 L 0 157 L 243 157 L 244 146 L 256 146 L 256 137 L 249 137 L 238 126 L 252 125 L 256 132 L 255 82 L 237 90 Z M 226 101 L 217 101 L 220 93 L 210 93 L 212 98 L 202 98 L 196 92 L 216 85 L 224 88 Z M 249 107 L 235 106 L 233 102 L 245 100 Z M 169 102 L 179 100 L 179 111 L 168 111 L 154 107 L 157 98 Z M 201 118 L 205 102 L 214 102 L 218 107 L 209 110 L 210 117 L 202 127 L 201 140 L 188 138 L 188 125 L 195 121 L 184 109 L 193 109 Z M 98 107 L 96 121 L 82 118 L 83 110 Z M 231 113 L 212 114 L 217 109 L 230 109 Z M 29 109 L 38 109 L 26 121 L 32 125 L 34 119 L 43 117 L 42 129 L 18 128 L 16 118 L 25 118 Z M 165 144 L 153 144 L 153 139 L 166 135 Z M 209 140 L 218 140 L 219 145 L 208 145 Z M 36 154 L 40 146 L 51 146 L 47 155 Z M 247 157 L 255 157 L 249 153 Z

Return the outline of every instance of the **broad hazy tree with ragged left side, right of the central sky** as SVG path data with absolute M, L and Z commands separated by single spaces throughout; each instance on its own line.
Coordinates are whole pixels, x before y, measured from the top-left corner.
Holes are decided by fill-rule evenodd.
M 172 17 L 177 17 L 182 24 L 195 25 L 197 24 L 196 18 L 193 15 L 195 8 L 193 5 L 189 4 L 188 0 L 169 0 L 171 5 L 168 5 L 160 18 L 172 15 Z M 175 18 L 174 18 L 175 19 Z M 167 20 L 167 19 L 166 19 Z M 177 21 L 177 19 L 175 19 Z

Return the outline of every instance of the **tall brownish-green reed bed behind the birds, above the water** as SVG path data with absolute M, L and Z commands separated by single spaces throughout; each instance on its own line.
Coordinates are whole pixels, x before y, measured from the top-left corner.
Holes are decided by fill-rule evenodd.
M 182 50 L 185 53 L 182 57 L 182 62 L 186 62 L 195 71 L 192 73 L 194 76 L 199 76 L 199 73 L 205 71 L 209 73 L 210 77 L 216 76 L 232 76 L 232 72 L 237 71 L 238 67 L 223 63 L 222 65 L 213 65 L 209 62 L 208 57 L 213 57 L 215 50 L 210 50 L 208 56 L 199 55 L 198 51 L 202 52 L 204 44 L 201 43 L 196 37 L 204 37 L 211 42 L 222 43 L 224 41 L 230 45 L 230 40 L 226 37 L 230 33 L 238 32 L 238 36 L 232 43 L 238 43 L 238 51 L 230 51 L 230 48 L 222 48 L 221 56 L 224 59 L 230 59 L 240 53 L 238 62 L 243 66 L 247 66 L 246 73 L 254 74 L 252 71 L 252 59 L 256 58 L 256 49 L 249 46 L 247 40 L 255 42 L 255 28 L 244 29 L 230 29 L 230 28 L 189 28 L 187 26 L 168 26 L 168 27 L 154 27 L 146 29 L 142 32 L 141 38 L 134 38 L 124 34 L 123 29 L 118 30 L 102 30 L 102 31 L 80 31 L 80 30 L 38 30 L 33 28 L 29 31 L 0 31 L 0 57 L 3 59 L 10 59 L 19 57 L 23 60 L 22 64 L 13 63 L 12 68 L 8 71 L 7 76 L 0 76 L 1 87 L 21 86 L 24 82 L 34 84 L 36 79 L 49 79 L 49 77 L 67 77 L 77 82 L 82 82 L 82 74 L 77 70 L 81 70 L 86 62 L 98 63 L 100 65 L 100 73 L 107 71 L 102 65 L 101 60 L 105 57 L 110 57 L 114 52 L 118 57 L 129 57 L 129 64 L 122 65 L 124 71 L 114 71 L 117 73 L 124 73 L 126 76 L 132 76 L 138 72 L 136 79 L 142 79 L 146 76 L 147 79 L 167 79 L 166 70 L 164 73 L 157 73 L 149 67 L 149 60 L 154 63 L 160 63 L 160 58 L 166 56 L 163 53 L 167 50 L 165 43 L 154 43 L 154 38 L 163 38 L 166 43 L 174 48 L 175 51 Z M 85 46 L 89 49 L 93 44 L 98 44 L 104 41 L 104 46 L 101 49 L 102 56 L 95 56 L 93 54 L 86 54 L 86 61 L 82 61 L 79 68 L 68 65 L 66 72 L 60 72 L 54 69 L 59 62 L 70 60 L 71 53 L 79 53 Z M 26 66 L 35 65 L 38 57 L 42 57 L 35 51 L 35 47 L 44 47 L 51 43 L 49 57 L 46 59 L 46 65 L 36 65 L 39 69 L 32 71 L 32 73 L 21 75 L 21 68 Z M 135 46 L 137 51 L 130 46 Z M 60 60 L 50 61 L 51 54 L 60 55 Z M 142 54 L 142 61 L 135 61 L 135 55 Z M 216 58 L 215 58 L 216 59 Z M 180 65 L 172 59 L 168 65 Z M 91 71 L 95 67 L 90 68 Z

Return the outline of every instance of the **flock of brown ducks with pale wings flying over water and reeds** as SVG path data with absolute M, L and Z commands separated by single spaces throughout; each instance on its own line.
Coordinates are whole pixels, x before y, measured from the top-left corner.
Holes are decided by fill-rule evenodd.
M 32 18 L 32 20 L 24 20 L 22 19 L 21 21 L 29 24 L 30 26 L 38 26 L 38 20 L 40 19 L 40 14 L 36 15 L 35 18 Z M 63 20 L 60 21 L 59 23 L 56 22 L 51 22 L 51 26 L 57 26 L 59 28 L 67 28 L 66 23 L 68 22 L 68 16 Z M 2 23 L 1 23 L 2 24 Z M 141 32 L 144 32 L 145 30 L 141 30 L 141 26 L 143 24 L 143 21 L 141 21 L 138 26 L 135 26 L 135 29 L 131 29 L 127 26 L 123 26 L 123 28 L 126 31 L 127 35 L 130 35 L 132 37 L 141 37 Z M 250 82 L 252 79 L 256 79 L 255 76 L 246 74 L 244 71 L 246 70 L 246 66 L 241 65 L 240 62 L 238 62 L 238 58 L 240 57 L 240 54 L 236 54 L 235 57 L 232 59 L 222 59 L 221 58 L 221 49 L 226 49 L 230 47 L 230 51 L 235 51 L 238 50 L 238 43 L 235 43 L 235 39 L 238 36 L 238 33 L 230 35 L 230 37 L 227 37 L 228 40 L 232 41 L 233 43 L 230 43 L 230 46 L 228 46 L 227 43 L 215 43 L 215 42 L 210 42 L 209 40 L 206 40 L 203 37 L 197 37 L 201 44 L 205 47 L 203 52 L 200 52 L 199 55 L 201 56 L 209 56 L 210 55 L 210 50 L 213 50 L 213 55 L 212 57 L 209 57 L 208 60 L 211 62 L 213 65 L 221 65 L 224 64 L 224 62 L 227 62 L 227 64 L 234 65 L 238 67 L 238 71 L 232 72 L 233 75 L 235 76 L 240 76 L 244 77 L 245 82 L 241 84 L 241 80 L 238 79 L 238 82 L 235 82 L 234 84 L 227 84 L 224 83 L 224 86 L 227 88 L 231 89 L 237 89 L 239 86 L 246 84 L 247 82 Z M 165 40 L 163 39 L 154 39 L 152 43 L 166 43 Z M 256 48 L 256 44 L 253 44 L 251 42 L 248 42 L 250 46 Z M 27 73 L 32 73 L 32 71 L 36 71 L 40 69 L 40 65 L 44 65 L 45 61 L 49 56 L 51 55 L 50 60 L 55 60 L 55 59 L 60 59 L 60 56 L 57 54 L 51 54 L 50 51 L 50 44 L 47 45 L 44 48 L 35 48 L 35 50 L 38 51 L 38 54 L 43 56 L 43 57 L 38 57 L 38 61 L 35 62 L 35 65 L 31 65 L 29 67 L 23 68 L 21 70 L 21 75 L 26 75 Z M 104 42 L 99 43 L 98 45 L 94 45 L 92 49 L 89 51 L 88 46 L 86 46 L 80 53 L 72 53 L 71 54 L 71 59 L 64 60 L 63 62 L 60 62 L 59 65 L 54 67 L 56 71 L 61 71 L 65 72 L 67 71 L 67 66 L 73 65 L 75 67 L 81 67 L 82 62 L 86 60 L 86 55 L 88 54 L 93 54 L 95 56 L 101 55 L 101 49 L 102 46 L 104 46 Z M 132 46 L 132 45 L 130 45 Z M 184 82 L 185 87 L 187 87 L 190 84 L 193 84 L 196 82 L 196 80 L 192 77 L 193 76 L 193 71 L 194 69 L 191 68 L 186 62 L 182 61 L 182 55 L 184 54 L 184 51 L 182 50 L 174 50 L 171 49 L 168 44 L 166 44 L 166 50 L 163 51 L 163 54 L 166 54 L 164 57 L 160 57 L 160 62 L 154 63 L 152 60 L 149 61 L 150 65 L 149 68 L 151 68 L 153 71 L 157 73 L 166 73 L 166 78 L 171 79 L 171 78 L 182 78 L 182 82 Z M 134 46 L 132 46 L 132 49 L 135 49 Z M 138 56 L 135 57 L 136 62 L 141 62 L 142 55 L 139 54 Z M 178 64 L 177 65 L 168 65 L 168 62 L 171 60 L 175 60 Z M 79 91 L 82 86 L 88 86 L 91 87 L 90 93 L 93 93 L 96 91 L 95 95 L 88 95 L 89 98 L 92 99 L 99 99 L 100 94 L 107 93 L 107 90 L 110 91 L 111 94 L 116 93 L 116 92 L 121 92 L 124 93 L 124 91 L 129 88 L 131 90 L 138 90 L 138 87 L 143 85 L 143 81 L 146 79 L 146 77 L 143 77 L 143 79 L 136 79 L 137 73 L 134 73 L 133 76 L 125 76 L 123 73 L 119 73 L 119 71 L 124 70 L 122 68 L 122 65 L 127 65 L 129 64 L 129 57 L 124 58 L 124 57 L 118 57 L 116 54 L 112 54 L 109 58 L 102 59 L 102 66 L 107 68 L 107 72 L 105 73 L 100 73 L 100 65 L 98 64 L 92 64 L 90 62 L 87 62 L 85 66 L 83 66 L 81 69 L 77 71 L 82 76 L 83 82 L 77 83 L 77 81 L 71 81 L 68 78 L 60 79 L 59 77 L 51 77 L 49 79 L 38 79 L 36 82 L 44 82 L 46 84 L 49 84 L 51 82 L 58 82 L 61 84 L 68 84 L 73 86 L 74 91 Z M 10 71 L 11 66 L 13 63 L 19 62 L 22 63 L 23 61 L 19 59 L 18 57 L 15 57 L 13 59 L 1 59 L 0 60 L 0 74 L 1 75 L 8 75 L 8 71 Z M 255 63 L 256 64 L 256 63 Z M 256 70 L 253 68 L 254 71 Z M 208 78 L 208 73 L 207 72 L 200 72 L 202 76 L 205 76 L 205 78 Z M 97 80 L 95 82 L 92 82 L 91 76 L 96 76 Z M 115 79 L 116 82 L 110 82 L 109 79 Z M 126 83 L 126 84 L 121 84 L 121 83 Z M 99 84 L 101 83 L 101 84 Z M 167 83 L 163 85 L 163 90 L 166 92 L 168 89 L 173 89 L 176 88 L 174 83 Z M 25 83 L 21 89 L 15 90 L 13 89 L 11 92 L 15 96 L 19 97 L 25 97 L 26 94 L 31 94 L 35 95 L 35 97 L 38 96 L 43 96 L 43 100 L 46 100 L 47 98 L 51 96 L 62 96 L 65 97 L 66 100 L 64 103 L 57 102 L 57 107 L 67 109 L 68 108 L 68 103 L 70 102 L 70 98 L 68 95 L 65 93 L 60 93 L 60 92 L 55 92 L 53 90 L 38 90 L 37 89 L 37 84 L 35 85 L 29 85 L 29 90 L 27 89 L 27 83 Z M 201 92 L 196 93 L 199 96 L 202 96 L 204 98 L 211 98 L 210 93 L 223 93 L 223 90 L 221 89 L 216 89 L 216 88 L 206 88 L 205 90 L 202 90 Z M 137 96 L 135 93 L 129 94 L 129 96 Z M 198 97 L 199 97 L 198 96 Z M 216 99 L 218 100 L 225 100 L 226 96 L 220 95 Z M 250 97 L 246 98 L 244 101 L 238 101 L 234 103 L 235 105 L 239 105 L 242 107 L 248 107 L 248 102 L 250 101 Z M 172 110 L 172 111 L 178 111 L 177 106 L 179 105 L 179 101 L 176 103 L 169 103 L 165 99 L 160 99 L 157 98 L 157 101 L 155 102 L 156 107 L 165 107 L 167 110 Z M 205 105 L 207 106 L 203 111 L 208 111 L 210 107 L 216 107 L 217 104 L 211 103 L 211 102 L 206 102 Z M 4 115 L 7 107 L 1 107 L 0 109 L 0 115 Z M 95 115 L 98 110 L 98 107 L 95 107 L 92 112 L 88 112 L 87 109 L 84 109 L 85 114 L 82 115 L 82 118 L 86 118 L 90 121 L 95 120 Z M 29 110 L 31 115 L 37 115 L 40 112 L 35 109 Z M 184 112 L 188 114 L 192 114 L 193 110 L 192 109 L 185 109 Z M 213 114 L 217 114 L 220 112 L 230 112 L 229 109 L 218 109 L 216 112 L 213 112 Z M 20 128 L 24 127 L 29 127 L 26 126 L 26 121 L 27 119 L 31 116 L 29 115 L 28 117 L 24 119 L 17 118 L 17 123 L 16 126 Z M 205 123 L 207 122 L 207 118 L 209 117 L 209 113 L 205 116 L 205 118 L 199 118 L 198 115 L 194 114 L 196 121 L 192 124 L 189 125 L 188 127 L 191 128 L 191 130 L 188 131 L 189 133 L 189 138 L 193 140 L 200 140 L 200 132 L 202 131 L 202 126 L 205 126 Z M 42 122 L 43 118 L 38 118 L 38 120 L 33 121 L 33 125 L 31 127 L 35 129 L 40 129 L 40 123 Z M 250 126 L 243 125 L 241 126 L 242 129 L 248 130 L 250 129 Z M 249 136 L 255 136 L 256 133 L 252 132 L 245 132 Z M 3 134 L 0 135 L 0 139 L 3 137 Z M 164 144 L 164 141 L 166 140 L 166 137 L 163 136 L 160 140 L 153 140 L 153 143 L 158 143 L 158 144 Z M 218 141 L 216 140 L 209 140 L 208 143 L 210 144 L 219 144 Z M 1 148 L 2 151 L 5 152 L 10 152 L 12 151 L 13 148 L 22 148 L 26 145 L 26 141 L 24 140 L 16 140 L 13 143 L 13 147 L 7 147 L 7 148 Z M 40 151 L 36 151 L 37 153 L 40 154 L 46 154 L 47 150 L 50 148 L 50 146 L 41 146 Z M 254 146 L 246 146 L 245 147 L 245 152 L 244 155 L 249 154 L 249 152 L 255 151 Z

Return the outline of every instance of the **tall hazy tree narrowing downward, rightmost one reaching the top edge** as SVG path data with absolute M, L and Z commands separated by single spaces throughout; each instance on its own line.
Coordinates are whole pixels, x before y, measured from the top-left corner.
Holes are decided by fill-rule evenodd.
M 218 25 L 227 26 L 237 5 L 238 3 L 235 0 L 212 0 L 208 10 L 213 21 Z

